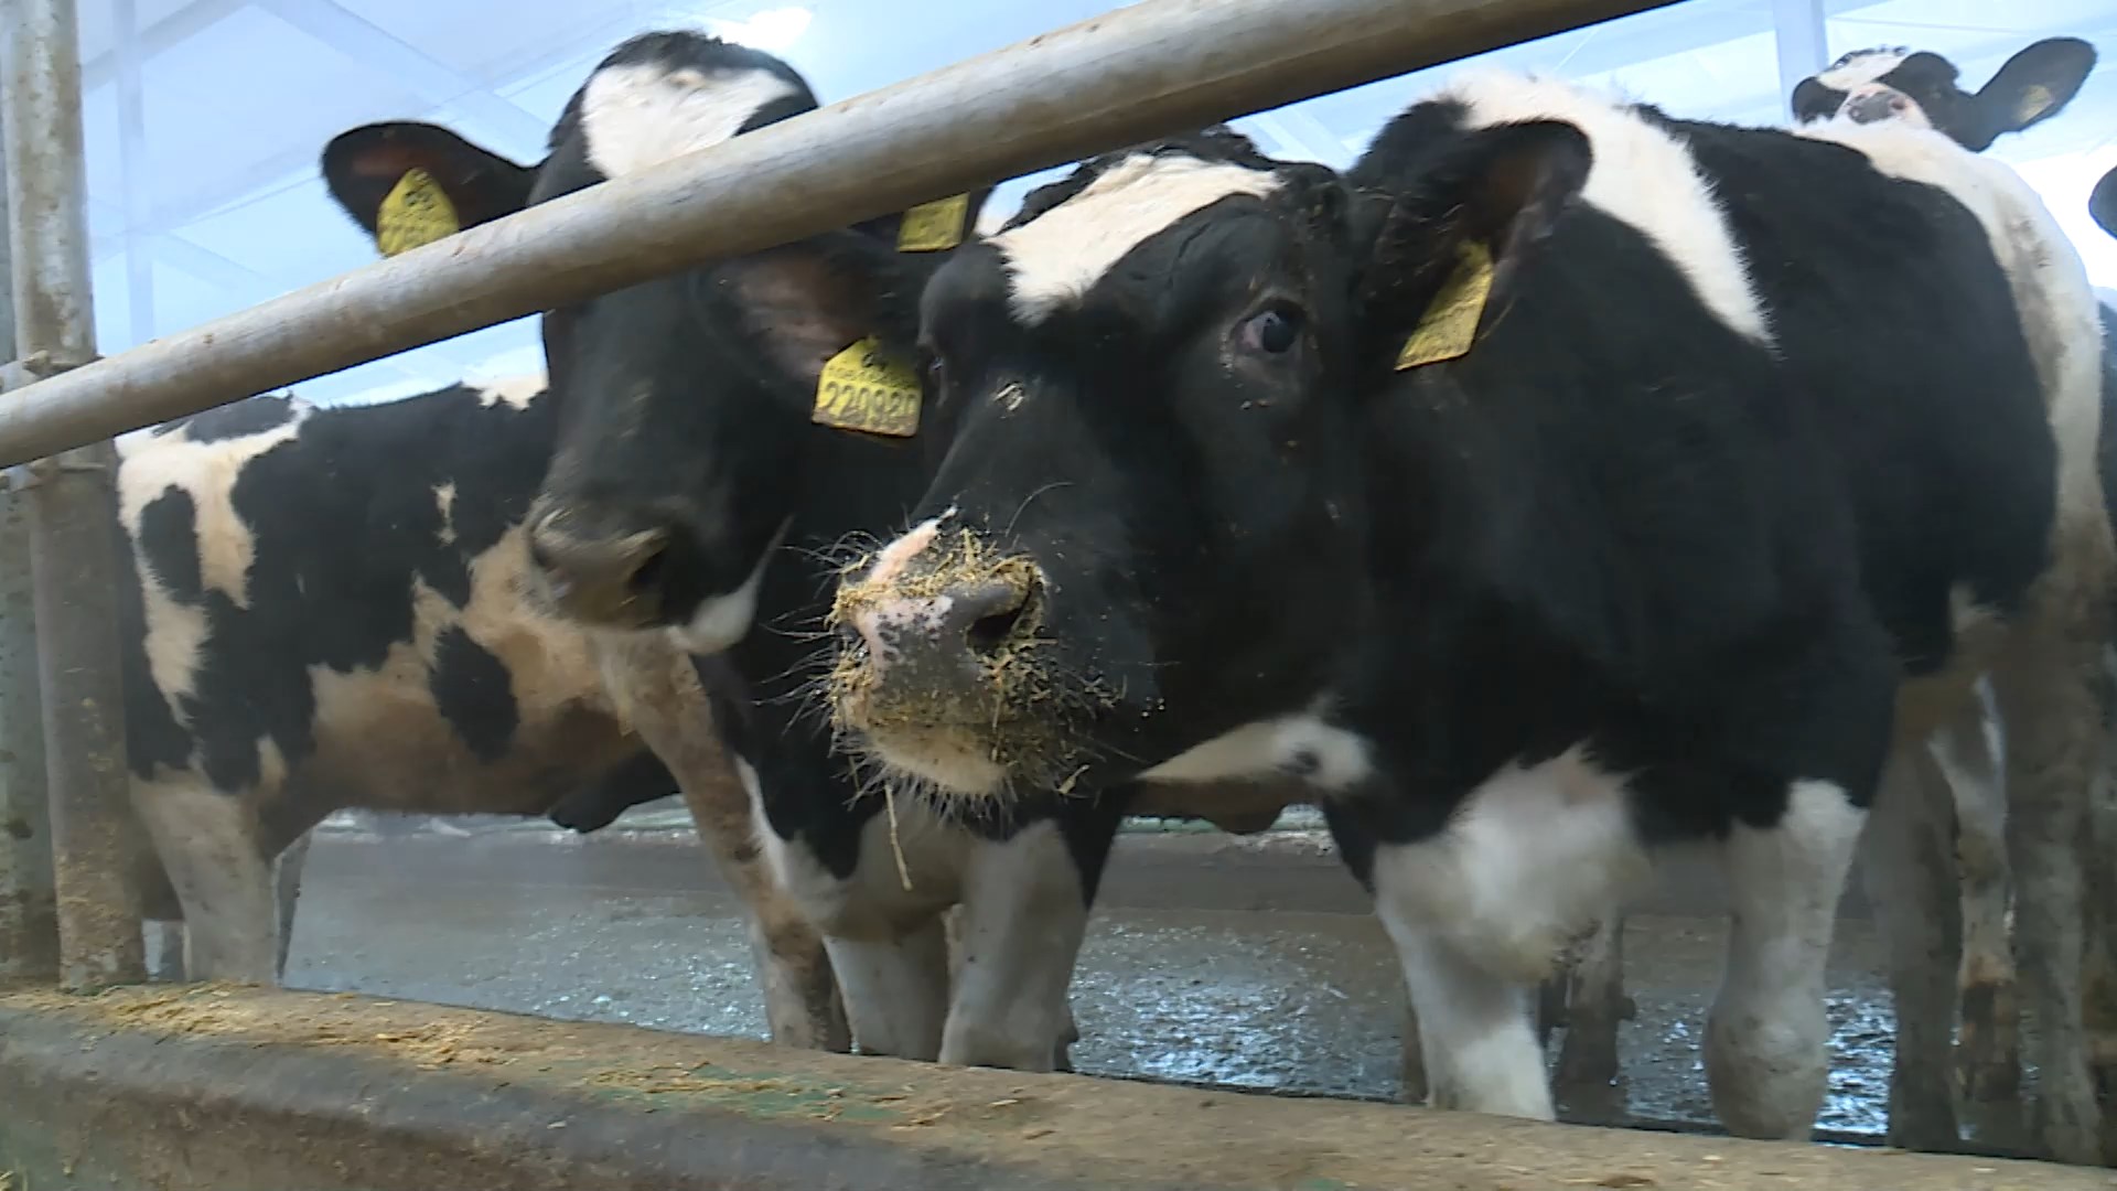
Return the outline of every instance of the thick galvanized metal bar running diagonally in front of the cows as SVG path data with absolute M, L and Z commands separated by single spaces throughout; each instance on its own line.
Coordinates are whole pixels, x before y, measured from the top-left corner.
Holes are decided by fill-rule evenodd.
M 1672 0 L 1143 0 L 30 388 L 0 466 L 1150 136 Z

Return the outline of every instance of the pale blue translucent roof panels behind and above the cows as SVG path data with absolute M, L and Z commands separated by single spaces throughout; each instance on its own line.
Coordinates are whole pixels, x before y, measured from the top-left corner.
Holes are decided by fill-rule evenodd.
M 347 127 L 436 121 L 536 161 L 589 68 L 637 32 L 705 28 L 758 45 L 832 102 L 1109 8 L 1105 0 L 83 0 L 99 348 L 116 352 L 373 261 L 373 244 L 318 176 L 324 142 Z M 1478 61 L 1581 78 L 1681 117 L 1772 123 L 1785 117 L 1791 78 L 1848 49 L 1933 49 L 1975 87 L 2051 34 L 2117 49 L 2117 0 L 1687 0 Z M 1463 66 L 1234 123 L 1272 155 L 1344 165 L 1389 117 Z M 2045 195 L 2096 284 L 2117 288 L 2117 244 L 2085 216 L 2087 191 L 2117 165 L 2117 74 L 2100 66 L 2066 112 L 1992 153 Z M 1056 174 L 999 186 L 989 220 Z M 536 320 L 525 318 L 298 390 L 375 401 L 538 362 Z

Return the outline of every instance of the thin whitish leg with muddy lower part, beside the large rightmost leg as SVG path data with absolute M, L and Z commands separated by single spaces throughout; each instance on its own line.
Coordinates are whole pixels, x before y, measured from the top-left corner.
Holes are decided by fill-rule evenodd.
M 2007 795 L 2001 784 L 1998 725 L 1986 687 L 1933 737 L 1948 780 L 1962 871 L 1962 1034 L 1956 1072 L 1969 1100 L 2011 1100 L 2022 1083 L 2022 1021 L 2013 996 L 2007 932 Z

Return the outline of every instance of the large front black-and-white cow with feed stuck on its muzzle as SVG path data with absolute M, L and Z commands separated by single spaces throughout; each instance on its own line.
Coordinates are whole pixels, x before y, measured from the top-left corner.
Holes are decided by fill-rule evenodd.
M 1876 797 L 1886 761 L 1992 674 L 2039 1123 L 2094 1161 L 2051 973 L 2117 566 L 2094 301 L 2037 197 L 1926 129 L 1507 74 L 1353 180 L 1145 146 L 936 273 L 951 447 L 840 585 L 834 718 L 974 810 L 1304 780 L 1465 1108 L 1552 1115 L 1524 985 L 1658 850 L 1713 846 L 1715 1108 L 1806 1136 L 1867 807 L 1918 805 Z M 1884 918 L 1946 911 L 1920 892 Z

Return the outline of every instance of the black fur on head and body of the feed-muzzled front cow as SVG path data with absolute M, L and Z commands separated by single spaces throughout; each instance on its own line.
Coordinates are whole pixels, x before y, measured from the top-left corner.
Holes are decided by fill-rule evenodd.
M 1645 119 L 1721 195 L 1772 350 L 1575 201 L 1569 125 L 1452 104 L 1389 125 L 1353 201 L 1289 170 L 1033 328 L 997 252 L 944 267 L 953 447 L 912 519 L 955 506 L 1048 576 L 1042 648 L 1120 693 L 1073 721 L 1084 784 L 1332 695 L 1380 769 L 1329 805 L 1355 869 L 1575 744 L 1634 774 L 1649 841 L 1772 824 L 1797 780 L 1867 803 L 1950 589 L 2007 615 L 2047 562 L 2056 447 L 2007 280 L 1967 210 L 1842 146 Z M 1478 345 L 1393 371 L 1471 239 Z M 1247 350 L 1274 309 L 1304 335 Z M 1027 388 L 1006 413 L 999 377 Z

